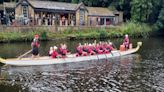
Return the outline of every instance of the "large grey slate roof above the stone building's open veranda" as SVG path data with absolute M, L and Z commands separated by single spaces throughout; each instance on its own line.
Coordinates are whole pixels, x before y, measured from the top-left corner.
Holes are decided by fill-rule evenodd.
M 54 2 L 54 1 L 29 0 L 29 3 L 34 8 L 40 8 L 40 9 L 76 10 L 76 8 L 78 7 L 78 4 Z

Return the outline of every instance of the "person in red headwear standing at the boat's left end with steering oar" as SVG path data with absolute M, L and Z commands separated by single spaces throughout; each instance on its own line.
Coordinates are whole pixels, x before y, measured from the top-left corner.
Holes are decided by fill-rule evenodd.
M 32 58 L 39 57 L 39 35 L 35 35 L 33 42 L 31 43 L 32 47 Z

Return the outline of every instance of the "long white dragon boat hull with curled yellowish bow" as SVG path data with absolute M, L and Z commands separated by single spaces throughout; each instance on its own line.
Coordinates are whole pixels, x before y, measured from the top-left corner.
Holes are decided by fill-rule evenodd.
M 67 58 L 55 58 L 55 59 L 52 59 L 48 56 L 39 57 L 35 59 L 22 58 L 21 60 L 18 58 L 14 58 L 14 59 L 0 58 L 0 62 L 6 65 L 13 65 L 13 66 L 32 66 L 32 65 L 52 65 L 52 64 L 69 63 L 69 62 L 100 60 L 100 59 L 119 57 L 119 56 L 124 56 L 124 55 L 135 53 L 139 50 L 141 45 L 142 45 L 142 42 L 138 42 L 136 48 L 132 48 L 126 51 L 115 50 L 109 54 L 97 54 L 97 55 L 80 56 L 80 57 L 76 57 L 75 54 L 71 54 L 71 55 L 68 55 Z

